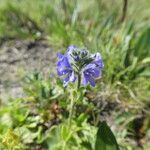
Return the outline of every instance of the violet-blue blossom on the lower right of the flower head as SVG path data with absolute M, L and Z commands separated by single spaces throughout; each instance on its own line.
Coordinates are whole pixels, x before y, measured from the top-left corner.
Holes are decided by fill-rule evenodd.
M 82 71 L 82 84 L 86 86 L 90 83 L 91 86 L 95 86 L 95 78 L 101 75 L 101 69 L 96 64 L 88 64 Z

